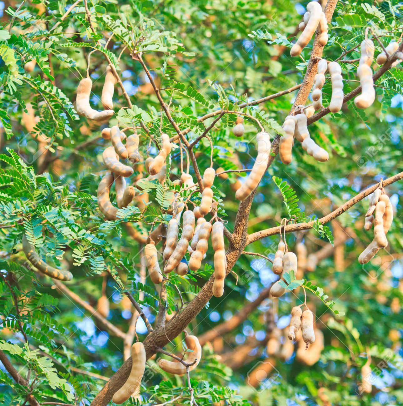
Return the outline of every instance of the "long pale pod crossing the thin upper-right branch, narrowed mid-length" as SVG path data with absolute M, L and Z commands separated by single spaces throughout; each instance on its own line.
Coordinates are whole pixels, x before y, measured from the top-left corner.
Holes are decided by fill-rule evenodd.
M 361 58 L 357 69 L 362 92 L 355 97 L 354 104 L 358 108 L 368 108 L 375 101 L 374 80 L 371 64 L 374 58 L 374 43 L 371 39 L 364 39 L 361 43 Z

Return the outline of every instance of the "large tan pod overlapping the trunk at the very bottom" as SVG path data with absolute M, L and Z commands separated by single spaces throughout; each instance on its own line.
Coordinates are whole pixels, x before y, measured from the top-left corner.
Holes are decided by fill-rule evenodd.
M 140 393 L 141 379 L 145 371 L 145 348 L 143 343 L 138 342 L 132 345 L 132 369 L 124 385 L 113 395 L 112 402 L 120 405 Z

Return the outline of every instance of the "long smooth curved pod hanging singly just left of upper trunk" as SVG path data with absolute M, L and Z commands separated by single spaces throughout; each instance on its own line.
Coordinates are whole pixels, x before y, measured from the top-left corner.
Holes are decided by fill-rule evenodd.
M 245 200 L 258 187 L 264 173 L 267 170 L 270 155 L 270 136 L 267 132 L 259 132 L 256 135 L 257 151 L 255 163 L 252 167 L 249 176 L 246 178 L 242 186 L 236 191 L 235 199 Z

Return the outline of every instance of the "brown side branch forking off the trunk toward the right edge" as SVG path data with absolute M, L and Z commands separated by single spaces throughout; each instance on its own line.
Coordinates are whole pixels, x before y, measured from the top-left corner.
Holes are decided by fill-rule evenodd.
M 403 179 L 403 172 L 398 173 L 397 175 L 394 175 L 388 179 L 385 179 L 383 181 L 384 186 L 388 186 L 394 182 L 397 182 L 399 180 Z M 371 186 L 368 189 L 363 190 L 361 193 L 357 194 L 356 196 L 352 197 L 349 201 L 338 207 L 336 210 L 333 212 L 327 214 L 326 216 L 319 218 L 318 221 L 321 224 L 325 224 L 334 218 L 340 216 L 340 214 L 343 214 L 345 211 L 347 211 L 350 207 L 353 207 L 356 203 L 364 199 L 364 197 L 369 196 L 373 191 L 378 188 L 379 184 L 375 184 L 374 186 Z M 298 224 L 290 224 L 286 226 L 286 233 L 290 233 L 293 231 L 299 231 L 299 230 L 308 230 L 311 229 L 314 225 L 313 221 L 307 222 L 307 223 L 298 223 Z M 283 228 L 284 230 L 284 228 Z M 252 242 L 255 242 L 257 240 L 260 240 L 261 238 L 264 237 L 269 237 L 270 235 L 275 235 L 280 233 L 280 227 L 271 227 L 266 230 L 262 231 L 257 231 L 256 233 L 250 234 L 248 236 L 248 244 L 251 244 Z

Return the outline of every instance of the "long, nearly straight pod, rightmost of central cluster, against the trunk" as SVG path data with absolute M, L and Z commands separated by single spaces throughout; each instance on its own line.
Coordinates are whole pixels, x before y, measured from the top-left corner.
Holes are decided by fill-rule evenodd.
M 225 258 L 224 246 L 224 225 L 222 222 L 216 221 L 212 226 L 211 243 L 214 253 L 214 283 L 213 295 L 216 298 L 224 294 L 225 269 L 227 260 Z

